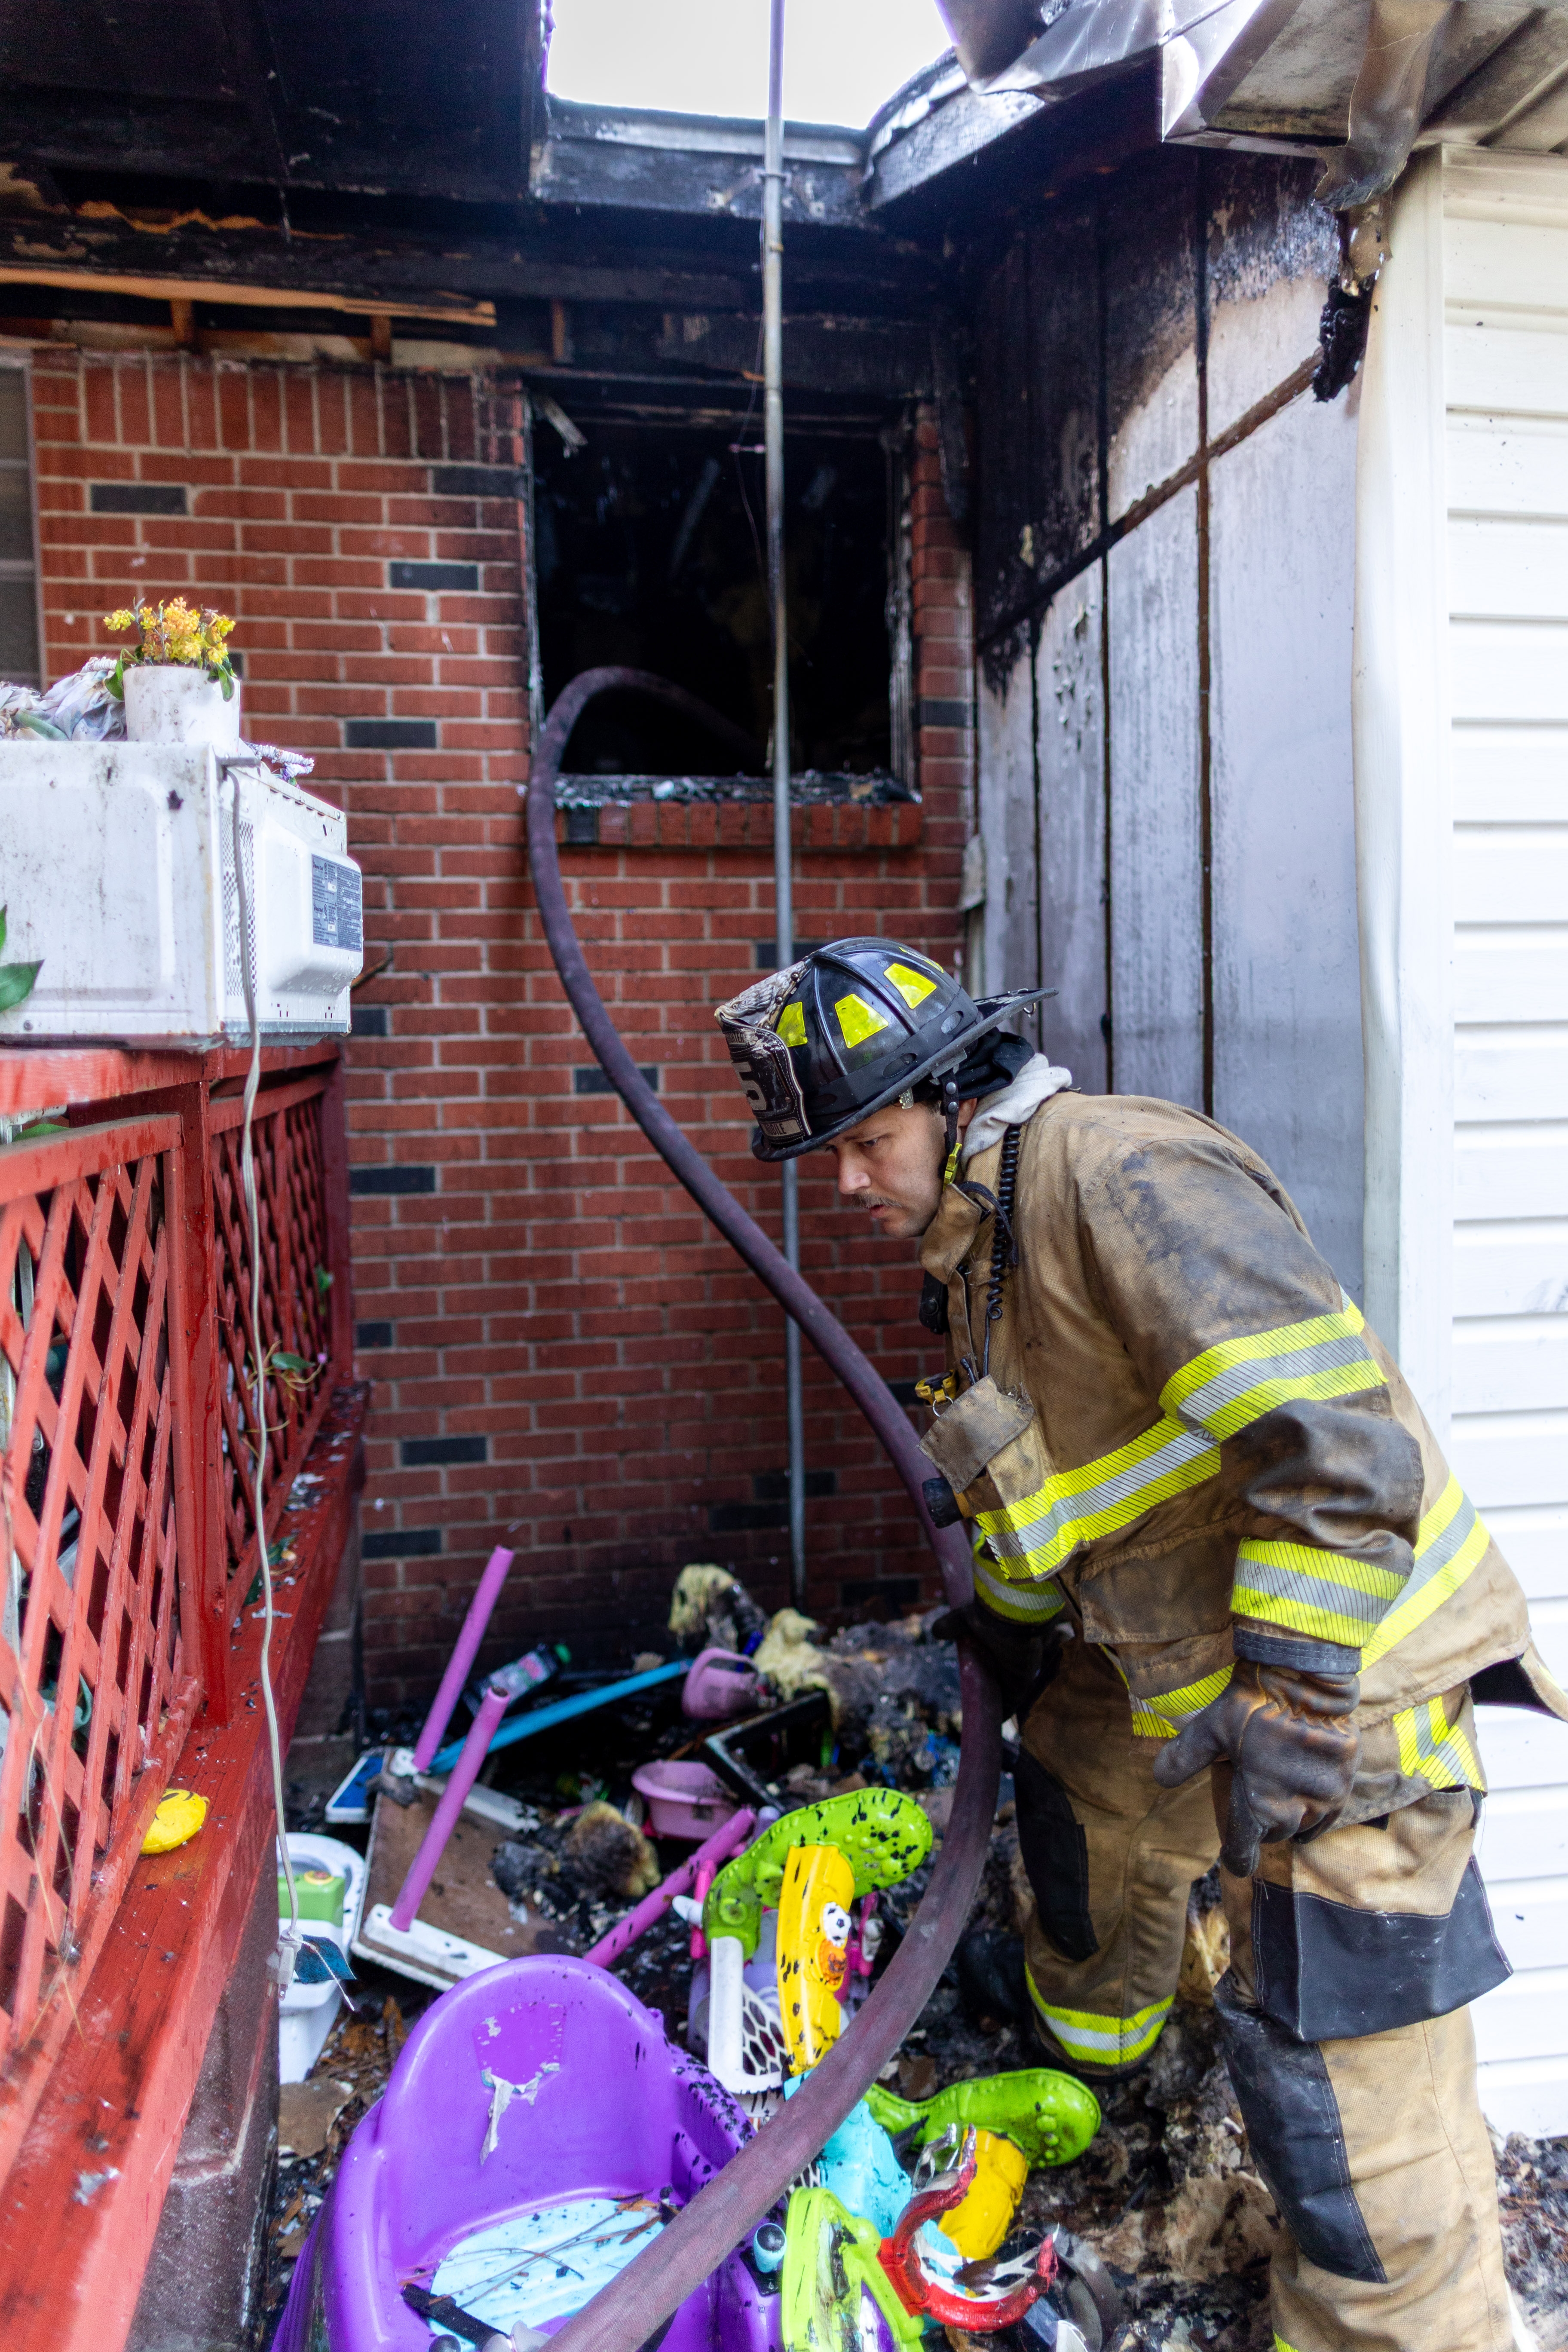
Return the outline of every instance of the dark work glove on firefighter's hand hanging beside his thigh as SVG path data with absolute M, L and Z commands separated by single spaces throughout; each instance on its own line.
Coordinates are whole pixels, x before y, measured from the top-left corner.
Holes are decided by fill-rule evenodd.
M 1180 1788 L 1208 1764 L 1232 1764 L 1220 1860 L 1248 1879 L 1260 1846 L 1312 1837 L 1342 1811 L 1361 1755 L 1349 1719 L 1359 1696 L 1356 1675 L 1237 1658 L 1220 1696 L 1154 1757 L 1154 1778 Z

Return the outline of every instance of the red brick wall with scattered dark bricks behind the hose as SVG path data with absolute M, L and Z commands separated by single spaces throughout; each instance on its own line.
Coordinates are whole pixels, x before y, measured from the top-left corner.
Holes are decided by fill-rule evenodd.
M 247 734 L 315 753 L 313 788 L 346 807 L 367 875 L 367 967 L 395 957 L 355 1000 L 386 1035 L 350 1049 L 355 1183 L 428 1185 L 355 1200 L 355 1315 L 393 1327 L 360 1357 L 376 1381 L 371 1698 L 430 1689 L 494 1543 L 520 1559 L 491 1653 L 623 1649 L 661 1625 L 686 1559 L 783 1599 L 785 1536 L 745 1524 L 778 1510 L 755 1482 L 785 1468 L 780 1317 L 618 1101 L 574 1094 L 592 1056 L 522 868 L 517 517 L 433 489 L 433 463 L 510 456 L 475 433 L 470 386 L 40 353 L 35 433 L 47 675 L 106 644 L 101 614 L 134 590 L 230 609 Z M 92 482 L 186 485 L 190 513 L 96 515 Z M 917 694 L 966 703 L 966 557 L 926 423 L 914 508 Z M 475 564 L 477 586 L 393 588 L 393 562 Z M 386 722 L 435 722 L 437 746 L 367 746 Z M 922 729 L 917 847 L 804 849 L 802 936 L 954 953 L 964 755 L 964 731 Z M 712 1023 L 771 936 L 766 849 L 569 849 L 564 870 L 635 1058 L 776 1230 L 778 1183 L 750 1160 Z M 809 1277 L 889 1378 L 936 1357 L 912 1261 L 837 1211 L 816 1162 L 802 1235 Z M 924 1578 L 914 1517 L 813 1357 L 806 1458 L 837 1486 L 809 1505 L 813 1604 Z

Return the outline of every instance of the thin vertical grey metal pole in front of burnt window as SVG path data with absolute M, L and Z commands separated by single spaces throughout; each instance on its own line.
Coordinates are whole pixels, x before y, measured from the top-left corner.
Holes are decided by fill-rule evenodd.
M 769 127 L 762 151 L 762 440 L 769 473 L 769 600 L 773 604 L 773 927 L 778 964 L 795 962 L 790 889 L 790 621 L 783 564 L 783 12 L 769 0 Z M 799 1270 L 799 1178 L 783 1167 L 783 1244 Z M 806 1606 L 806 1425 L 799 1392 L 799 1327 L 785 1319 L 785 1416 L 790 1428 L 790 1599 Z

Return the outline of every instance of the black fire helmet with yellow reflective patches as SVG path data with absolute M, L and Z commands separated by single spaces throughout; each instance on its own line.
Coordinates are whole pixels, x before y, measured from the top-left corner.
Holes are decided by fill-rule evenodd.
M 1013 988 L 978 1002 L 919 948 L 896 938 L 835 938 L 799 964 L 745 988 L 715 1018 L 724 1030 L 745 1101 L 757 1160 L 797 1160 L 910 1094 L 922 1080 L 943 1089 L 947 1148 L 959 1101 L 1009 1082 L 1001 1047 L 1030 1058 L 1023 1040 L 997 1040 L 990 1087 L 964 1073 L 976 1044 L 1053 988 Z M 959 1077 L 969 1077 L 961 1087 Z

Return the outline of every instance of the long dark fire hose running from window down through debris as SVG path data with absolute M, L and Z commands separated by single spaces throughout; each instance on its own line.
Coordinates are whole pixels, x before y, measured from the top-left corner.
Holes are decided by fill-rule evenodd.
M 792 1315 L 823 1362 L 856 1399 L 889 1461 L 910 1489 L 910 1501 L 936 1555 L 943 1592 L 952 1609 L 973 1597 L 973 1564 L 961 1526 L 936 1529 L 922 1484 L 931 1475 L 914 1442 L 903 1406 L 886 1381 L 853 1343 L 816 1291 L 785 1263 L 762 1225 L 712 1174 L 686 1141 L 654 1089 L 642 1080 L 625 1049 L 588 960 L 571 927 L 567 889 L 555 854 L 555 786 L 571 729 L 597 694 L 644 694 L 665 708 L 705 727 L 741 757 L 755 746 L 729 720 L 682 687 L 649 670 L 583 670 L 557 696 L 534 750 L 527 788 L 527 835 L 534 896 L 555 969 L 567 1000 L 592 1047 L 599 1068 L 642 1127 L 654 1150 L 668 1162 L 696 1204 L 712 1218 L 757 1279 Z M 997 1778 L 1001 1771 L 1001 1698 L 978 1649 L 959 1637 L 959 1696 L 964 1738 L 959 1778 L 952 1792 L 947 1832 L 931 1865 L 931 1882 L 919 1900 L 907 1933 L 886 1966 L 879 1985 L 860 2009 L 853 2032 L 844 2034 L 811 2070 L 799 2093 L 717 2173 L 675 2220 L 609 2286 L 583 2305 L 552 2338 L 552 2352 L 639 2352 L 649 2338 L 679 2310 L 726 2253 L 783 2197 L 795 2176 L 820 2154 L 849 2110 L 865 2096 L 917 2016 L 936 1992 L 969 1919 L 997 1813 Z

